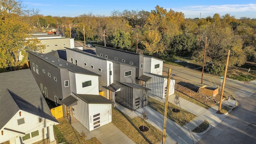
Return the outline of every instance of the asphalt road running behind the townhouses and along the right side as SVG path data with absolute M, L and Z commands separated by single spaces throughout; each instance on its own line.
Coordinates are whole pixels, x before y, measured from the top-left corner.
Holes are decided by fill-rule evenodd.
M 163 71 L 172 68 L 174 79 L 185 80 L 197 85 L 221 87 L 218 76 L 204 74 L 188 68 L 164 64 Z M 211 128 L 198 144 L 256 144 L 256 84 L 226 79 L 224 91 L 234 96 L 239 105 L 220 124 Z

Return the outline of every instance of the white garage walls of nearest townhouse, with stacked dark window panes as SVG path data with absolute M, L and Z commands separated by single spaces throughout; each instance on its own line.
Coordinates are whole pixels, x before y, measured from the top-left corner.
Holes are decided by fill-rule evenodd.
M 111 104 L 88 104 L 81 98 L 73 106 L 73 116 L 89 131 L 112 122 Z

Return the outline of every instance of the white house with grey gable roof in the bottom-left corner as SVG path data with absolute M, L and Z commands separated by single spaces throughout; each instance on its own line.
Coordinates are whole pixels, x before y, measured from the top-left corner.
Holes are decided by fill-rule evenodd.
M 56 144 L 52 116 L 31 71 L 0 73 L 0 143 Z

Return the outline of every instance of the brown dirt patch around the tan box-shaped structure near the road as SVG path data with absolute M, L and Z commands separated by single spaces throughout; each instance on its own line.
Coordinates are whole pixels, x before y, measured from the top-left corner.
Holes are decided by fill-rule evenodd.
M 207 96 L 205 94 L 197 93 L 198 88 L 199 86 L 196 86 L 194 84 L 190 84 L 188 82 L 184 82 L 181 80 L 175 80 L 175 89 L 178 92 L 181 92 L 186 96 L 189 96 L 190 98 L 193 98 L 210 107 L 220 102 L 220 94 L 217 94 L 216 96 Z

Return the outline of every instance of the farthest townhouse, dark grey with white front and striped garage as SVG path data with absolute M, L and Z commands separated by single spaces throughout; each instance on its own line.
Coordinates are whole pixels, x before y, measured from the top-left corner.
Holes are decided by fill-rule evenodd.
M 136 66 L 136 84 L 149 88 L 149 93 L 164 98 L 167 78 L 162 76 L 163 60 L 125 50 L 95 45 L 96 55 Z M 170 82 L 169 95 L 174 94 L 175 81 Z

